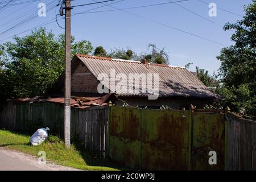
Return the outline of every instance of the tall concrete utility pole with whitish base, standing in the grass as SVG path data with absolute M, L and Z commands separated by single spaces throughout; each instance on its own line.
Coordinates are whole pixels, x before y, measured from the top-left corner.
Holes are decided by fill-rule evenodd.
M 65 146 L 70 146 L 71 133 L 71 1 L 65 2 L 65 108 L 64 108 L 64 138 Z

